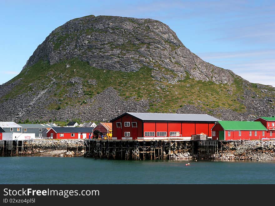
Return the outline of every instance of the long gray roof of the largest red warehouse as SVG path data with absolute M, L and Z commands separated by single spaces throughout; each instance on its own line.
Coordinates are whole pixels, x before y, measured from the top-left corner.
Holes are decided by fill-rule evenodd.
M 137 117 L 141 120 L 153 121 L 202 121 L 202 122 L 216 122 L 219 119 L 208 114 L 176 114 L 176 113 L 133 113 L 128 114 Z

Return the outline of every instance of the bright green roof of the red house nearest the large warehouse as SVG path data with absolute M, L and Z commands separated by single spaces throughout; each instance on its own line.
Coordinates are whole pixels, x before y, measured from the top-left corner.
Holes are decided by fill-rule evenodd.
M 261 122 L 218 121 L 224 130 L 267 130 Z

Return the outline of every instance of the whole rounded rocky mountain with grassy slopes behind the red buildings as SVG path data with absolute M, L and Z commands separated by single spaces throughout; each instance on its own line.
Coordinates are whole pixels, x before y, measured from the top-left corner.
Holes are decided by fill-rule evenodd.
M 56 28 L 0 86 L 1 120 L 108 121 L 124 112 L 274 115 L 275 88 L 204 62 L 166 24 L 87 16 Z

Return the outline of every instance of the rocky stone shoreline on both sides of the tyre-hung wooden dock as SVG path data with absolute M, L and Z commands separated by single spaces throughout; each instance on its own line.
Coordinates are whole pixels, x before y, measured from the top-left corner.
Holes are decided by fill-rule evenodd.
M 47 139 L 35 140 L 32 143 L 32 156 L 54 156 L 54 157 L 81 157 L 84 155 L 83 139 Z M 221 142 L 218 154 L 208 157 L 198 157 L 192 154 L 192 150 L 171 153 L 169 159 L 218 159 L 218 160 L 275 160 L 275 141 L 235 141 Z

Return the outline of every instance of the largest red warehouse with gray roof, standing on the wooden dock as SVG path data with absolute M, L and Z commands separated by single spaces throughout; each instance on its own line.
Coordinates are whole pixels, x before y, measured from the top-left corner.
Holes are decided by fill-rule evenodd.
M 124 113 L 110 122 L 113 139 L 191 139 L 191 135 L 205 133 L 218 121 L 207 114 Z

